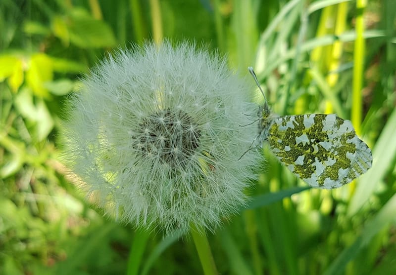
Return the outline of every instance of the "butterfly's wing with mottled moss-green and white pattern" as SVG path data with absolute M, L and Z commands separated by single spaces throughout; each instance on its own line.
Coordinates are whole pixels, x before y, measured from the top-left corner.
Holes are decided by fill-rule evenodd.
M 267 139 L 275 156 L 312 187 L 341 187 L 372 163 L 371 150 L 351 122 L 336 115 L 273 118 Z

